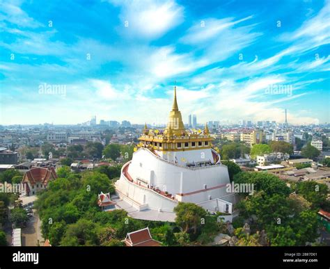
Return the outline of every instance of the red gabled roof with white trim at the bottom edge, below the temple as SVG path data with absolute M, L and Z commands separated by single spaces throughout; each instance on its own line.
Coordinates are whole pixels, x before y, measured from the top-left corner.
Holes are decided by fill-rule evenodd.
M 157 247 L 161 245 L 158 241 L 152 239 L 149 228 L 146 227 L 139 231 L 132 231 L 128 233 L 125 238 L 125 244 L 130 247 L 146 247 L 146 246 L 154 246 Z

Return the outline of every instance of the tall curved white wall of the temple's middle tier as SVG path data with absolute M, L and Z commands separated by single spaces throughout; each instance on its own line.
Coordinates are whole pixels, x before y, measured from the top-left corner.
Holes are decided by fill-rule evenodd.
M 230 183 L 228 169 L 225 165 L 211 165 L 195 169 L 182 168 L 160 160 L 148 149 L 143 148 L 133 154 L 132 163 L 127 172 L 133 179 L 139 177 L 148 181 L 150 186 L 157 186 L 172 195 L 203 190 L 205 185 L 206 188 L 213 188 Z M 223 189 L 225 193 L 223 193 Z M 226 188 L 217 188 L 199 193 L 194 197 L 202 202 L 208 199 L 209 195 L 212 195 L 212 199 L 214 199 L 226 194 Z

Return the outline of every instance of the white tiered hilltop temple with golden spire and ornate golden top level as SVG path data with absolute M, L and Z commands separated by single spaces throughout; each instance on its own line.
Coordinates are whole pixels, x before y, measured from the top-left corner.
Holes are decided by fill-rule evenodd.
M 120 199 L 137 211 L 173 212 L 178 202 L 192 202 L 207 211 L 233 214 L 235 194 L 226 191 L 228 168 L 212 149 L 206 124 L 204 131 L 184 128 L 176 88 L 166 129 L 145 125 L 139 140 L 115 184 Z

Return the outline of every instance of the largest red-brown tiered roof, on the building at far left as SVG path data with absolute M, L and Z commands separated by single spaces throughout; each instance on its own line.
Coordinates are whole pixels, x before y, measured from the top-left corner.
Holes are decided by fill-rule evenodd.
M 25 172 L 22 182 L 30 182 L 31 185 L 41 183 L 46 185 L 49 180 L 57 179 L 57 174 L 54 167 L 49 168 L 31 168 L 29 171 Z

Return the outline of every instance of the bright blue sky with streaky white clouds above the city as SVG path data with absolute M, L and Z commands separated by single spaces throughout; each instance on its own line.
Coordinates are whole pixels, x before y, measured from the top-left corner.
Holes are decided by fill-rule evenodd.
M 283 122 L 285 108 L 292 124 L 330 122 L 329 13 L 314 0 L 0 0 L 0 124 L 160 124 L 174 81 L 186 123 Z

